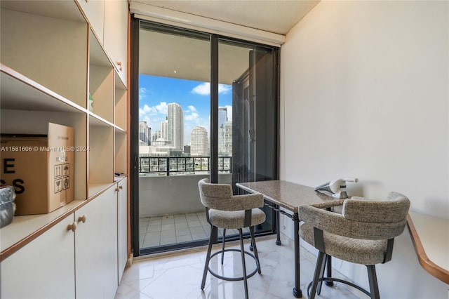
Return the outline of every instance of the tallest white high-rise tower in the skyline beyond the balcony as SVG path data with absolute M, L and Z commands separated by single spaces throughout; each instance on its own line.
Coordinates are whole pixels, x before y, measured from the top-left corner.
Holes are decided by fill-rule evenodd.
M 168 104 L 167 139 L 175 150 L 184 149 L 184 111 L 176 102 Z

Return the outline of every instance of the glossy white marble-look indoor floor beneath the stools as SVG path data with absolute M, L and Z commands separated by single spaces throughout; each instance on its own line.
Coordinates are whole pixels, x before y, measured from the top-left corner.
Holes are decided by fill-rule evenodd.
M 162 224 L 161 224 L 162 225 Z M 294 298 L 294 251 L 293 241 L 283 237 L 282 246 L 274 244 L 274 237 L 257 238 L 257 249 L 260 257 L 262 274 L 255 274 L 248 279 L 250 298 L 274 299 Z M 246 240 L 248 248 L 249 240 Z M 229 242 L 228 248 L 239 248 L 236 242 Z M 220 248 L 215 246 L 214 251 Z M 206 299 L 206 298 L 244 298 L 243 281 L 223 281 L 208 274 L 206 287 L 201 291 L 206 247 L 184 251 L 173 251 L 158 255 L 136 258 L 131 267 L 123 273 L 115 299 L 154 298 L 154 299 Z M 302 298 L 307 298 L 307 285 L 314 273 L 315 259 L 311 253 L 300 251 Z M 211 260 L 210 267 L 225 275 L 241 275 L 239 253 L 227 252 L 225 263 L 220 265 L 220 255 Z M 253 270 L 255 263 L 247 259 L 248 271 Z M 337 272 L 333 273 L 338 277 Z M 344 278 L 344 277 L 340 277 Z M 359 298 L 343 284 L 333 287 L 323 285 L 321 295 L 316 298 Z M 365 297 L 361 297 L 365 298 Z

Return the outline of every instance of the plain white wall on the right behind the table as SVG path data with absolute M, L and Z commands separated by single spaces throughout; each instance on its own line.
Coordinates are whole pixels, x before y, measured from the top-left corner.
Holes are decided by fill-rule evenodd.
M 281 179 L 315 187 L 355 176 L 350 195 L 397 191 L 412 211 L 448 218 L 448 28 L 448 1 L 315 6 L 281 48 Z M 367 286 L 360 268 L 339 267 Z M 382 298 L 448 296 L 408 232 L 378 268 Z

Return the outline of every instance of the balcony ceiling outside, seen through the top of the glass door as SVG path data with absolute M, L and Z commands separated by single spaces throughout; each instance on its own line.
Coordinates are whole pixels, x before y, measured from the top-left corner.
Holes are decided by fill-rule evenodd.
M 140 30 L 140 74 L 210 81 L 209 41 Z M 231 85 L 249 67 L 251 48 L 219 44 L 219 81 Z

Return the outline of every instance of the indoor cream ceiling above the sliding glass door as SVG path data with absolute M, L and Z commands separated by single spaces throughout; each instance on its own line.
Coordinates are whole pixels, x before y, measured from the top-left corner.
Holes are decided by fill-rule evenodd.
M 319 0 L 130 0 L 286 35 Z

